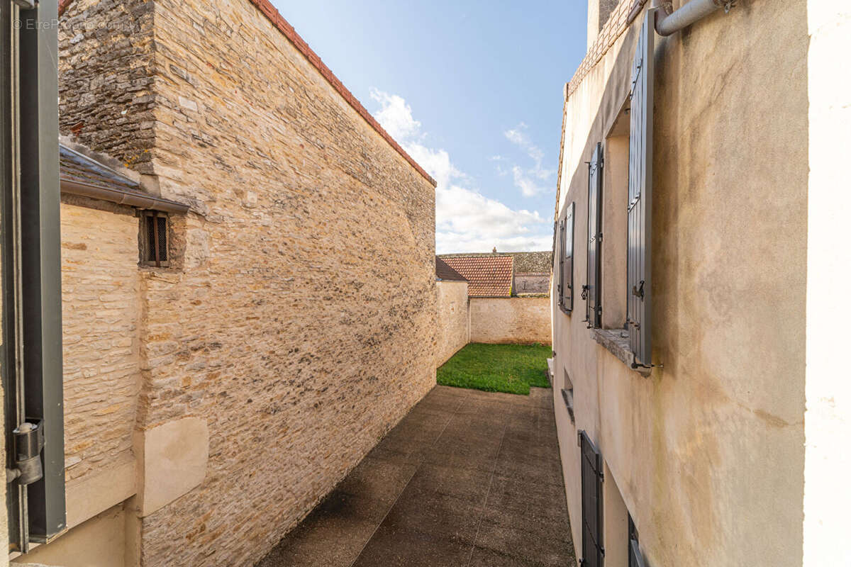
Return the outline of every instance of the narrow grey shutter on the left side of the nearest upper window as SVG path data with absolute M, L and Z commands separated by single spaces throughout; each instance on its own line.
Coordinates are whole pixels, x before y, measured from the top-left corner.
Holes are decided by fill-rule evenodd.
M 600 326 L 600 252 L 603 242 L 603 147 L 597 144 L 588 163 L 588 274 L 585 283 L 585 320 Z

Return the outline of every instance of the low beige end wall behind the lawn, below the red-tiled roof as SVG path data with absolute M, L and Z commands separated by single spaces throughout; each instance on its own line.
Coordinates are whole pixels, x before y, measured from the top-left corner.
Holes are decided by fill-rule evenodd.
M 549 298 L 470 298 L 471 343 L 550 341 Z

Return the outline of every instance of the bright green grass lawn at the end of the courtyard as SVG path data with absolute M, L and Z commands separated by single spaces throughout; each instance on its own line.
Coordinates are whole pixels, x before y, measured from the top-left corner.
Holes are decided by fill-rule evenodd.
M 437 369 L 437 383 L 487 392 L 529 393 L 529 386 L 549 388 L 546 359 L 550 347 L 540 344 L 471 343 Z

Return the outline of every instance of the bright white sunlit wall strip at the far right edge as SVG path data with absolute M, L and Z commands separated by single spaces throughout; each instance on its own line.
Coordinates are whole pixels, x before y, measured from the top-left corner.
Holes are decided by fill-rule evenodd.
M 807 413 L 803 564 L 851 564 L 851 382 L 842 354 L 851 318 L 848 281 L 848 148 L 851 77 L 837 54 L 851 51 L 851 4 L 810 0 L 807 56 L 809 191 L 807 201 Z M 838 244 L 842 243 L 842 244 Z M 838 244 L 838 245 L 837 245 Z

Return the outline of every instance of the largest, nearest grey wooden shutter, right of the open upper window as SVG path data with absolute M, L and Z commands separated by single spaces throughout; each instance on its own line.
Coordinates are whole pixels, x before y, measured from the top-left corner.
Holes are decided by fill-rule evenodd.
M 644 18 L 632 68 L 630 93 L 629 214 L 627 230 L 626 321 L 635 363 L 650 366 L 653 205 L 653 13 Z

